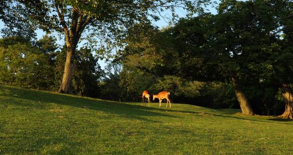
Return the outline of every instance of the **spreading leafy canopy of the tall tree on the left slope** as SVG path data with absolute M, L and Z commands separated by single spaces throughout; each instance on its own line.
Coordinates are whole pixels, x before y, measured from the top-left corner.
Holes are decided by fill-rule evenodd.
M 80 39 L 98 56 L 105 58 L 116 47 L 124 46 L 122 38 L 128 28 L 137 22 L 159 20 L 161 12 L 169 10 L 173 19 L 175 8 L 184 8 L 190 15 L 200 12 L 209 0 L 155 0 L 155 1 L 20 1 L 1 2 L 0 19 L 6 25 L 2 33 L 7 36 L 35 37 L 34 31 L 41 28 L 58 32 L 73 44 Z M 86 35 L 83 33 L 86 32 Z M 73 41 L 73 42 L 72 42 Z M 107 58 L 107 57 L 106 57 Z

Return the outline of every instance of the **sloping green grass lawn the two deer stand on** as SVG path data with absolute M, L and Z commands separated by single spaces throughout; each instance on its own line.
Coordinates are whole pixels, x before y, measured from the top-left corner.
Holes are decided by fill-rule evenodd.
M 292 127 L 239 110 L 145 107 L 0 85 L 0 154 L 290 154 Z

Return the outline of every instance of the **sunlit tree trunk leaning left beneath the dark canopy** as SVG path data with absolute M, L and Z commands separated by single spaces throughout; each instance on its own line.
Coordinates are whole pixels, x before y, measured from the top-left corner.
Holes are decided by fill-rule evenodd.
M 235 76 L 232 76 L 232 83 L 233 83 L 234 91 L 235 91 L 237 100 L 240 104 L 242 113 L 245 115 L 253 115 L 253 111 L 251 109 L 249 101 L 248 101 L 247 97 L 245 96 L 241 85 L 236 80 Z

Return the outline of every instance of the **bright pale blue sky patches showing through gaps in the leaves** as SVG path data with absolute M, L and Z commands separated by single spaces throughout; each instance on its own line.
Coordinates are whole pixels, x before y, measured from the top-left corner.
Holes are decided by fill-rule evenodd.
M 214 8 L 208 7 L 208 9 L 210 9 L 210 11 L 212 13 L 214 13 L 214 14 L 216 13 L 216 10 Z M 178 14 L 179 17 L 185 17 L 186 14 L 187 14 L 186 10 L 184 10 L 183 8 L 178 8 L 178 9 L 175 10 L 175 12 Z M 170 11 L 164 11 L 164 12 L 161 13 L 161 15 L 166 16 L 167 18 L 168 17 L 171 18 Z M 163 28 L 163 27 L 167 27 L 168 24 L 169 24 L 167 18 L 165 18 L 165 19 L 161 18 L 158 21 L 152 21 L 152 24 L 157 26 L 157 27 L 159 27 L 160 29 Z M 4 28 L 4 22 L 2 20 L 0 20 L 0 29 L 3 29 L 3 28 Z M 40 30 L 40 29 L 37 30 L 36 33 L 37 33 L 37 39 L 40 39 L 45 35 L 45 32 Z M 56 33 L 53 33 L 51 35 L 56 37 L 58 45 L 60 45 L 60 46 L 64 45 L 64 40 L 58 39 L 58 35 Z M 1 36 L 1 33 L 0 33 L 0 36 Z M 83 44 L 84 42 L 85 41 L 81 41 L 79 44 Z M 98 63 L 101 66 L 102 69 L 104 69 L 105 66 L 107 65 L 104 60 L 99 60 Z

